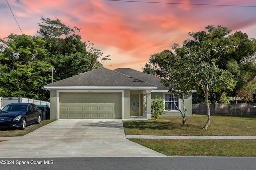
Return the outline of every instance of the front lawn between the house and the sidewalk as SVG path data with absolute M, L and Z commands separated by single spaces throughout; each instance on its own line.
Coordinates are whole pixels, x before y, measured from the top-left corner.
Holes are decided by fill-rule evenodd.
M 149 121 L 124 121 L 125 134 L 184 135 L 184 136 L 256 136 L 256 116 L 211 116 L 207 130 L 203 130 L 207 116 L 161 117 Z

